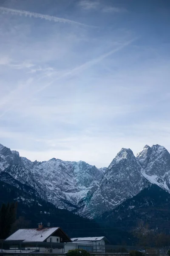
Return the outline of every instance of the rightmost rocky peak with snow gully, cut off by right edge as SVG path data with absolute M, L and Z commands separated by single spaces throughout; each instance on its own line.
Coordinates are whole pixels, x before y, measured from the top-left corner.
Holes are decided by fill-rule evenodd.
M 167 149 L 158 144 L 146 145 L 136 158 L 142 166 L 142 175 L 170 192 L 170 154 Z

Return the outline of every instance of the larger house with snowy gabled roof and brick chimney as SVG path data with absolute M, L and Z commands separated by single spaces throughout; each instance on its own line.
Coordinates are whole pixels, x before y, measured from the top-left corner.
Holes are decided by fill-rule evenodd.
M 9 236 L 5 243 L 11 250 L 31 250 L 37 252 L 64 252 L 64 244 L 71 239 L 60 227 L 43 227 L 19 229 Z

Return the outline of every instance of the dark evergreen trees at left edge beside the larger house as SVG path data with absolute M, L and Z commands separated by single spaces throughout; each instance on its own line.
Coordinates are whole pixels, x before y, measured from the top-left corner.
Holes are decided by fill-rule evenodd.
M 6 239 L 17 217 L 17 202 L 2 204 L 0 208 L 0 239 Z

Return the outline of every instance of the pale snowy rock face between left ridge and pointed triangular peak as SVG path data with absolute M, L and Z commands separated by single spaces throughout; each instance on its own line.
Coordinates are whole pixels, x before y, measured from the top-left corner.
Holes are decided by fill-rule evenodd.
M 46 191 L 48 201 L 67 209 L 76 208 L 89 191 L 96 189 L 103 177 L 101 170 L 83 161 L 70 162 L 55 158 L 34 163 L 32 173 Z

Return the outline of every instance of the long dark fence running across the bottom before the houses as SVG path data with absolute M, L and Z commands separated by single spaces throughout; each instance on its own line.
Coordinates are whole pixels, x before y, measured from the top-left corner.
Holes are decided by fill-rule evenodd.
M 85 249 L 90 253 L 119 253 L 127 254 L 131 250 L 139 250 L 144 253 L 144 248 L 137 246 L 121 246 L 121 245 L 99 245 L 92 244 L 91 242 L 69 242 L 69 243 L 52 243 L 52 242 L 32 242 L 32 241 L 4 241 L 0 240 L 0 253 L 66 253 L 68 250 L 72 249 Z M 161 248 L 147 248 L 147 253 L 152 256 L 156 255 L 167 255 L 167 250 L 170 247 Z

